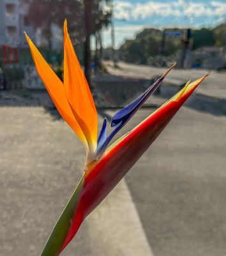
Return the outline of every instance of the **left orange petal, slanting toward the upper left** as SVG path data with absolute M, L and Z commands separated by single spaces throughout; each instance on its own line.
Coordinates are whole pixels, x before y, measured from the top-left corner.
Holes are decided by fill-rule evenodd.
M 25 35 L 31 49 L 31 54 L 33 56 L 36 70 L 41 80 L 45 84 L 45 87 L 47 88 L 47 91 L 49 92 L 52 101 L 54 102 L 57 110 L 64 118 L 64 120 L 68 123 L 68 125 L 70 125 L 70 127 L 72 127 L 73 131 L 75 131 L 77 136 L 79 136 L 80 140 L 82 141 L 82 143 L 84 143 L 84 146 L 87 150 L 86 137 L 84 136 L 84 133 L 82 132 L 79 124 L 75 120 L 75 116 L 73 115 L 72 109 L 70 108 L 70 104 L 66 99 L 63 83 L 54 73 L 47 61 L 45 61 L 43 56 L 41 56 L 41 53 L 38 51 L 33 42 L 31 42 L 29 36 L 27 36 L 26 33 Z

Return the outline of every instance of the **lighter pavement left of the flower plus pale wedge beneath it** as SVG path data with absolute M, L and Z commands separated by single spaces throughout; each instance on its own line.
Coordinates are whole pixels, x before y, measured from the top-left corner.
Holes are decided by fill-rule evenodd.
M 55 109 L 40 106 L 50 106 L 46 96 L 0 95 L 1 256 L 40 255 L 82 177 L 82 143 Z M 152 255 L 124 180 L 88 216 L 61 255 Z

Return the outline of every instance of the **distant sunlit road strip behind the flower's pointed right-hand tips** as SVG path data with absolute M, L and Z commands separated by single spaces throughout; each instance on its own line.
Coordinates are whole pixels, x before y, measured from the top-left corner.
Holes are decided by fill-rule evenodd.
M 155 68 L 124 62 L 119 62 L 117 65 L 119 68 L 113 68 L 110 62 L 105 62 L 105 66 L 110 74 L 134 79 L 150 79 L 151 77 L 161 76 L 166 70 L 166 68 Z M 183 70 L 175 68 L 175 70 L 170 72 L 165 81 L 170 84 L 181 85 L 189 80 L 193 81 L 198 79 L 207 73 L 209 73 L 210 76 L 204 81 L 197 92 L 210 97 L 226 99 L 226 72 L 216 72 L 215 70 Z

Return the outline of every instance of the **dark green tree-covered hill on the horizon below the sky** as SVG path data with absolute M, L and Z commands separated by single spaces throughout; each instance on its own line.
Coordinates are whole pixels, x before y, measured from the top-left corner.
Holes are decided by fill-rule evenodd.
M 177 35 L 178 32 L 180 36 Z M 226 22 L 213 29 L 191 29 L 190 45 L 193 50 L 204 46 L 224 46 L 226 45 Z M 176 37 L 165 36 L 175 34 Z M 148 63 L 149 58 L 164 54 L 170 56 L 181 49 L 185 29 L 160 29 L 146 28 L 137 33 L 134 40 L 126 40 L 121 45 L 119 51 L 124 61 L 132 63 Z

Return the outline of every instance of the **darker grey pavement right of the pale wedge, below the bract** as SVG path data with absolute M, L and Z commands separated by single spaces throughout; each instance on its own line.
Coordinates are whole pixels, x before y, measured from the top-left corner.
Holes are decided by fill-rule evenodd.
M 126 175 L 155 256 L 226 255 L 226 118 L 195 98 Z M 122 134 L 152 111 L 140 109 Z

